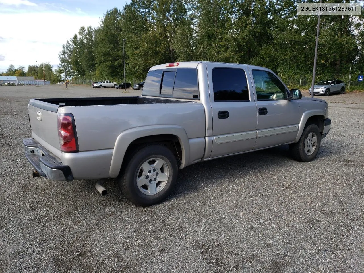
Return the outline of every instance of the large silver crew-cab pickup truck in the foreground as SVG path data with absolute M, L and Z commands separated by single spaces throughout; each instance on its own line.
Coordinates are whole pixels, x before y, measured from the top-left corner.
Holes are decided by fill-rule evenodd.
M 311 161 L 328 104 L 258 66 L 181 62 L 150 68 L 142 96 L 31 99 L 25 156 L 51 180 L 117 178 L 136 205 L 161 202 L 178 169 L 289 145 Z

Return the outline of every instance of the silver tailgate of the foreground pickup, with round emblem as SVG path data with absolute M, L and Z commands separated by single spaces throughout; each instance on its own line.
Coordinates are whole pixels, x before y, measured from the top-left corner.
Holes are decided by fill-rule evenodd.
M 32 137 L 43 146 L 46 146 L 44 143 L 46 142 L 48 145 L 60 150 L 58 138 L 58 107 L 56 106 L 53 107 L 53 109 L 50 108 L 49 110 L 45 110 L 43 108 L 47 108 L 47 105 L 44 105 L 43 107 L 42 104 L 49 103 L 41 102 L 39 100 L 36 101 L 36 103 L 32 101 L 34 100 L 31 100 L 28 106 Z M 34 104 L 36 106 L 34 106 Z

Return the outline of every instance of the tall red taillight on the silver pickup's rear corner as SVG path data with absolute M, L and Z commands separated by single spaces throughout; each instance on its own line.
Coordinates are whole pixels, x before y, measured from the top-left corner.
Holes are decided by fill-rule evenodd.
M 58 137 L 61 151 L 78 152 L 76 127 L 72 114 L 58 114 Z

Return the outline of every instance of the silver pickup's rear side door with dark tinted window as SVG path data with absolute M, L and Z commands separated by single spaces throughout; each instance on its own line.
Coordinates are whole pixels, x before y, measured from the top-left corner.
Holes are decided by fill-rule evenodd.
M 207 63 L 212 107 L 210 158 L 252 150 L 256 141 L 257 108 L 244 65 Z

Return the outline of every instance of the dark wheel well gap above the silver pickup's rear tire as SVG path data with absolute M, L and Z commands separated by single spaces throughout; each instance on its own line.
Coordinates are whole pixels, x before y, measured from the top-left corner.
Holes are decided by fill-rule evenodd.
M 141 149 L 149 144 L 162 144 L 172 151 L 174 154 L 178 166 L 181 165 L 182 160 L 182 147 L 179 139 L 175 135 L 161 134 L 161 135 L 149 135 L 147 137 L 137 138 L 130 143 L 125 151 L 124 159 L 130 156 L 134 151 Z M 123 159 L 122 167 L 126 162 Z

